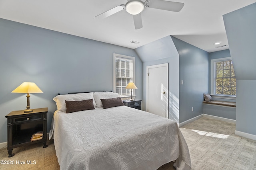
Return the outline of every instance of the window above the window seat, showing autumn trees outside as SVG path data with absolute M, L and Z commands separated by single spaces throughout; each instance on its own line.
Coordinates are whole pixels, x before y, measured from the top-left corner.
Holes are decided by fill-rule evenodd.
M 212 84 L 212 94 L 236 96 L 236 76 L 231 57 L 212 60 Z

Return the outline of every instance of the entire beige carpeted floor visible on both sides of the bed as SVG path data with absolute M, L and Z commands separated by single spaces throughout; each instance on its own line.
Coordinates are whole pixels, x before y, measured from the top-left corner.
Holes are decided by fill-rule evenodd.
M 208 118 L 200 118 L 180 128 L 190 150 L 192 170 L 256 170 L 256 141 L 234 135 L 235 125 Z M 8 158 L 7 149 L 0 150 L 1 170 L 59 170 L 54 144 L 30 145 L 13 149 Z M 35 160 L 36 164 L 27 164 Z M 25 161 L 19 164 L 19 161 Z M 175 170 L 173 162 L 158 170 Z

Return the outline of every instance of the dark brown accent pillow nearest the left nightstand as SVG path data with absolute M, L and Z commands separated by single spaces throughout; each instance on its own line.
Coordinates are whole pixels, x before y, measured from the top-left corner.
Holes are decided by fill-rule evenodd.
M 93 99 L 81 100 L 81 101 L 65 100 L 65 102 L 66 102 L 66 107 L 67 107 L 66 113 L 95 109 L 93 106 Z

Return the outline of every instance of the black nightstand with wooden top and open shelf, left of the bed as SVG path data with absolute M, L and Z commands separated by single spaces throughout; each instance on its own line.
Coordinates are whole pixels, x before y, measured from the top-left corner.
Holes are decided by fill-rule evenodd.
M 30 113 L 24 113 L 24 110 L 12 111 L 5 116 L 8 119 L 8 157 L 14 156 L 12 153 L 13 148 L 41 142 L 44 144 L 44 148 L 47 147 L 47 112 L 48 108 L 46 107 L 33 109 Z M 43 131 L 43 138 L 38 141 L 30 141 L 32 135 L 38 131 Z

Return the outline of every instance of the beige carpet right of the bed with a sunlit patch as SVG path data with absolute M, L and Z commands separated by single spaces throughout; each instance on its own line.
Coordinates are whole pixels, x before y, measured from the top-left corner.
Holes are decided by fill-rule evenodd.
M 256 170 L 256 141 L 235 135 L 235 124 L 202 117 L 180 129 L 193 170 Z

